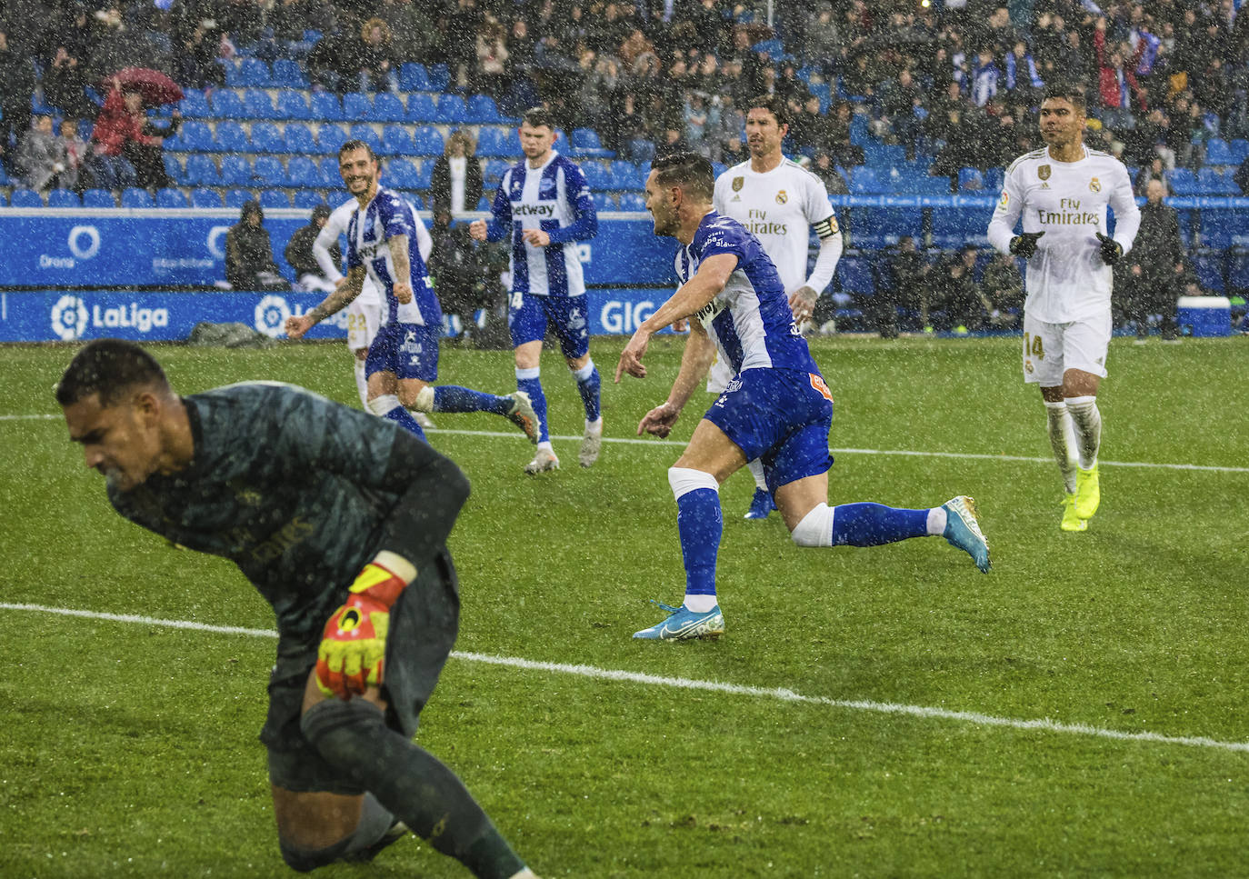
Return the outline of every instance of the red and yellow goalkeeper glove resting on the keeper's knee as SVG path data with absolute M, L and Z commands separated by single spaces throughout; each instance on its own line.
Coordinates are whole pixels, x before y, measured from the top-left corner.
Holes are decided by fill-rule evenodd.
M 406 559 L 380 553 L 351 584 L 346 603 L 330 616 L 316 658 L 316 684 L 325 695 L 350 699 L 382 683 L 390 608 L 416 576 Z M 391 568 L 411 576 L 403 577 Z

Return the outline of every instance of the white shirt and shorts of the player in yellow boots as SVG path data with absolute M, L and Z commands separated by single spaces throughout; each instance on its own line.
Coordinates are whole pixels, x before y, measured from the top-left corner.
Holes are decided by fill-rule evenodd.
M 1025 382 L 1058 387 L 1072 368 L 1107 375 L 1112 270 L 1102 260 L 1097 233 L 1107 233 L 1108 206 L 1114 211 L 1114 240 L 1127 253 L 1140 211 L 1118 159 L 1084 147 L 1083 159 L 1059 162 L 1043 147 L 1007 169 L 989 242 L 1009 253 L 1020 217 L 1024 232 L 1044 232 L 1025 272 Z

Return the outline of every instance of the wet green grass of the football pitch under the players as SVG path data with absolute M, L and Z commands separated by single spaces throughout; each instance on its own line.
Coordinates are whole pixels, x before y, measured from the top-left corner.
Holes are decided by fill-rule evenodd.
M 651 377 L 615 386 L 622 343 L 592 347 L 610 440 L 633 437 L 679 358 L 678 340 L 658 338 Z M 647 599 L 682 592 L 666 478 L 679 446 L 607 442 L 596 467 L 577 467 L 580 400 L 547 357 L 562 471 L 526 477 L 530 446 L 490 416 L 437 416 L 431 435 L 473 484 L 452 534 L 458 649 L 739 689 L 461 656 L 422 744 L 543 877 L 1245 875 L 1249 753 L 1219 743 L 1249 742 L 1249 472 L 1129 464 L 1249 467 L 1247 340 L 1112 345 L 1103 507 L 1083 534 L 1058 531 L 1018 341 L 813 346 L 837 398 L 829 444 L 849 449 L 833 501 L 973 494 L 993 573 L 940 539 L 798 549 L 778 517 L 741 519 L 741 474 L 722 489 L 726 637 L 632 642 L 658 619 Z M 56 413 L 74 350 L 0 348 L 0 416 Z M 156 355 L 187 393 L 272 378 L 357 402 L 342 346 Z M 508 352 L 447 350 L 441 380 L 515 387 Z M 673 440 L 709 397 L 696 403 Z M 230 564 L 112 513 L 59 418 L 0 418 L 0 601 L 272 626 Z M 901 451 L 950 454 L 881 453 Z M 256 740 L 271 638 L 16 609 L 4 621 L 0 877 L 291 875 Z M 467 873 L 408 839 L 318 875 Z

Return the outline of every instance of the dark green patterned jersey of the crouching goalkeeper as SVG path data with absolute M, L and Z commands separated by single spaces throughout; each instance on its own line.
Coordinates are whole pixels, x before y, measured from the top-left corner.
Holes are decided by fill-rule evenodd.
M 326 619 L 380 551 L 417 569 L 446 553 L 468 481 L 393 422 L 277 382 L 182 402 L 190 467 L 110 487 L 109 499 L 131 522 L 239 566 L 277 614 L 280 673 L 315 662 Z

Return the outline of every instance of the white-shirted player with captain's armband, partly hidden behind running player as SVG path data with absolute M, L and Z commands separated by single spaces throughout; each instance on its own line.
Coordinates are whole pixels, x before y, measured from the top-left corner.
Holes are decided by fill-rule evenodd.
M 833 280 L 842 255 L 842 233 L 823 181 L 781 152 L 781 141 L 788 131 L 789 111 L 783 99 L 761 95 L 751 101 L 746 114 L 751 159 L 716 179 L 712 206 L 746 226 L 763 245 L 801 327 L 811 318 L 821 291 Z M 808 276 L 811 228 L 819 238 L 819 252 Z M 732 377 L 729 365 L 717 358 L 707 377 L 707 390 L 719 393 Z M 763 478 L 763 464 L 752 461 L 748 467 L 754 477 L 754 497 L 746 518 L 766 519 L 776 504 Z

